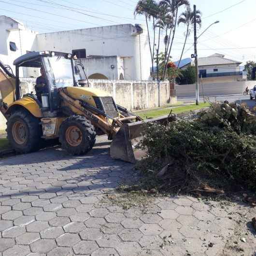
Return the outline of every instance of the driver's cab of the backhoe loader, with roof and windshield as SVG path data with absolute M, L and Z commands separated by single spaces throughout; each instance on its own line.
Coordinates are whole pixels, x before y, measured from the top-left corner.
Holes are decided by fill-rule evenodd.
M 74 62 L 74 56 L 60 52 L 30 52 L 14 60 L 16 72 L 15 100 L 21 99 L 21 88 L 19 81 L 19 68 L 40 68 L 44 74 L 42 97 L 35 94 L 26 94 L 37 101 L 41 109 L 54 112 L 59 108 L 60 101 L 57 97 L 58 88 L 77 86 L 77 78 L 81 78 L 79 69 Z

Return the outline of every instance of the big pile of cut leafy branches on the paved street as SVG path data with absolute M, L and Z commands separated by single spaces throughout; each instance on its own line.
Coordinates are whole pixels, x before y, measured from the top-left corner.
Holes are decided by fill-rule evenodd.
M 147 155 L 137 164 L 148 175 L 144 188 L 207 195 L 234 188 L 256 191 L 255 114 L 223 103 L 198 116 L 146 125 L 138 147 Z

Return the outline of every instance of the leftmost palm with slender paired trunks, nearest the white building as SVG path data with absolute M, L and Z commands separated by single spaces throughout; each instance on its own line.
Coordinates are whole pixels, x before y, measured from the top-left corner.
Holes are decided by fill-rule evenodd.
M 152 64 L 152 73 L 153 73 L 153 80 L 155 80 L 154 76 L 154 55 L 155 55 L 155 18 L 157 14 L 157 4 L 155 0 L 139 0 L 134 11 L 134 16 L 136 17 L 137 14 L 144 15 L 146 19 L 147 25 L 147 32 L 148 32 L 148 41 L 149 41 L 149 49 L 151 55 L 151 64 Z M 150 35 L 149 35 L 149 25 L 148 21 L 150 21 L 151 17 L 153 17 L 153 29 L 154 29 L 154 39 L 153 39 L 153 51 L 151 47 Z

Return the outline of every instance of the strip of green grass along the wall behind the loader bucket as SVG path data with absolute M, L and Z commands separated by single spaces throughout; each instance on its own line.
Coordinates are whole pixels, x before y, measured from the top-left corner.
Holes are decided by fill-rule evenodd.
M 141 116 L 143 119 L 146 119 L 148 117 L 158 117 L 162 115 L 168 115 L 172 109 L 173 114 L 180 114 L 183 112 L 188 112 L 188 111 L 194 111 L 194 110 L 199 110 L 202 108 L 209 107 L 210 103 L 200 103 L 199 105 L 191 104 L 191 105 L 186 105 L 186 106 L 181 106 L 181 107 L 175 107 L 175 108 L 163 108 L 163 109 L 153 109 L 153 110 L 148 110 L 148 111 L 141 111 L 141 112 L 135 112 L 137 115 Z

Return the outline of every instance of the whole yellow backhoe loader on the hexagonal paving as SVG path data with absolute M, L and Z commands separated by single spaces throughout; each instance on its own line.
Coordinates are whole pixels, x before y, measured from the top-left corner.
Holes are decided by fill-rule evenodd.
M 29 52 L 14 60 L 14 66 L 15 75 L 0 62 L 0 111 L 7 119 L 8 140 L 20 153 L 36 151 L 42 140 L 58 138 L 63 149 L 83 155 L 92 149 L 97 134 L 107 134 L 111 156 L 135 162 L 134 143 L 143 123 L 166 122 L 170 117 L 143 121 L 129 113 L 112 96 L 87 86 L 84 66 L 71 54 Z M 40 96 L 21 95 L 21 67 L 43 69 Z

